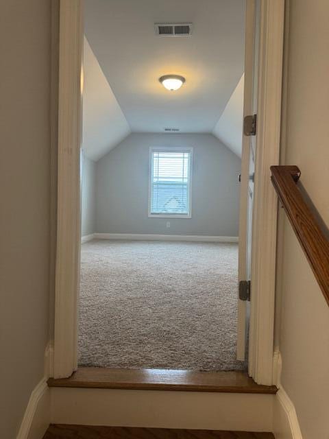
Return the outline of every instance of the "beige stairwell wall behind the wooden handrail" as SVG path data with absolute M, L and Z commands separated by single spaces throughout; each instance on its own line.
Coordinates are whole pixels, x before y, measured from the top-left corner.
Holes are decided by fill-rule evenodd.
M 329 226 L 329 2 L 289 3 L 282 163 L 300 167 L 301 182 Z M 280 235 L 282 385 L 295 405 L 303 439 L 328 439 L 329 308 L 286 218 Z

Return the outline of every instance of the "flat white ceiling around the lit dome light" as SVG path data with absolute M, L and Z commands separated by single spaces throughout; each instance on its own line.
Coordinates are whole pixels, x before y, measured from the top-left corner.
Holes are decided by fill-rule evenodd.
M 85 32 L 133 132 L 212 132 L 243 73 L 245 0 L 85 0 Z M 159 37 L 156 22 L 192 22 Z M 169 92 L 161 75 L 183 75 Z

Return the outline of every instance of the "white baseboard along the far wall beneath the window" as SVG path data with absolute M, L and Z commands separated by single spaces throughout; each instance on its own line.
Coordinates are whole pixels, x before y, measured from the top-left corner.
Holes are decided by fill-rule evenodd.
M 90 236 L 90 235 L 88 235 Z M 94 233 L 94 239 L 132 239 L 143 241 L 239 242 L 236 236 L 156 235 L 153 233 Z M 91 239 L 93 239 L 91 238 Z

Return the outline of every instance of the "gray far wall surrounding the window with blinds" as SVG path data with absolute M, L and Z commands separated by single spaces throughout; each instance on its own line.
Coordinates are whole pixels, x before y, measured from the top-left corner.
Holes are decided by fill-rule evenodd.
M 193 147 L 191 219 L 147 216 L 151 146 Z M 130 134 L 97 162 L 97 232 L 237 236 L 240 168 L 212 134 Z

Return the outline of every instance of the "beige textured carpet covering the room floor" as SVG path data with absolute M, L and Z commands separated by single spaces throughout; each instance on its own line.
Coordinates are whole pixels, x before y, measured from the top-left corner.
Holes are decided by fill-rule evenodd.
M 236 244 L 94 240 L 82 245 L 79 364 L 242 370 Z

